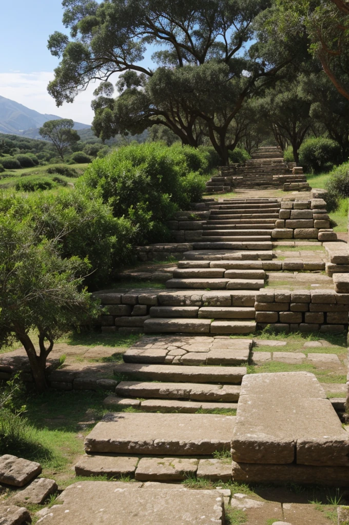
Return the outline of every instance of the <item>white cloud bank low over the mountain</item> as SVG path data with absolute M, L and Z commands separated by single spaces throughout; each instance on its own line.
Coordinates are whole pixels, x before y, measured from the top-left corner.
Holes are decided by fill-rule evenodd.
M 49 113 L 73 119 L 76 122 L 90 124 L 94 118 L 91 109 L 91 100 L 97 83 L 90 83 L 86 91 L 79 93 L 73 104 L 64 103 L 59 108 L 47 92 L 47 84 L 53 80 L 53 72 L 40 71 L 29 74 L 11 71 L 0 73 L 0 95 L 2 97 L 19 102 L 39 113 Z M 116 82 L 117 77 L 112 81 Z

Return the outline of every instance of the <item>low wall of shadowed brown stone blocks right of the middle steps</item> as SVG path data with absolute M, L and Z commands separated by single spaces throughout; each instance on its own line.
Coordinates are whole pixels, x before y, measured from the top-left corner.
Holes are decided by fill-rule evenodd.
M 262 290 L 254 304 L 257 328 L 340 332 L 347 328 L 349 295 L 333 290 Z

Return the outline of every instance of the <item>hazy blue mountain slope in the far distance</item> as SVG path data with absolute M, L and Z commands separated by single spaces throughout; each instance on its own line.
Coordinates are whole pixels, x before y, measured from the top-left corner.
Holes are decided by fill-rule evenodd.
M 0 133 L 22 135 L 30 139 L 40 139 L 39 128 L 48 120 L 61 119 L 56 115 L 39 113 L 0 96 Z M 74 129 L 88 129 L 88 124 L 74 123 Z

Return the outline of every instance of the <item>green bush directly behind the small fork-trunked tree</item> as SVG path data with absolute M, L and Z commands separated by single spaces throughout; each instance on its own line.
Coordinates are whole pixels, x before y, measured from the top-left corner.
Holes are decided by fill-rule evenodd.
M 59 234 L 61 256 L 87 257 L 92 270 L 85 282 L 90 289 L 97 289 L 106 285 L 112 271 L 132 262 L 137 232 L 130 220 L 114 218 L 110 208 L 94 197 L 76 190 L 28 198 L 4 196 L 0 214 L 26 219 L 42 237 L 53 239 Z

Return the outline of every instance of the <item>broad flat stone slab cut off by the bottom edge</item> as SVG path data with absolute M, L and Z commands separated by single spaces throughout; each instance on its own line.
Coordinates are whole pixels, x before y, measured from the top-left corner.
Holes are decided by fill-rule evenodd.
M 62 505 L 50 508 L 43 521 L 45 525 L 224 524 L 223 498 L 217 497 L 215 490 L 130 485 L 117 481 L 77 482 L 61 493 L 57 503 Z

